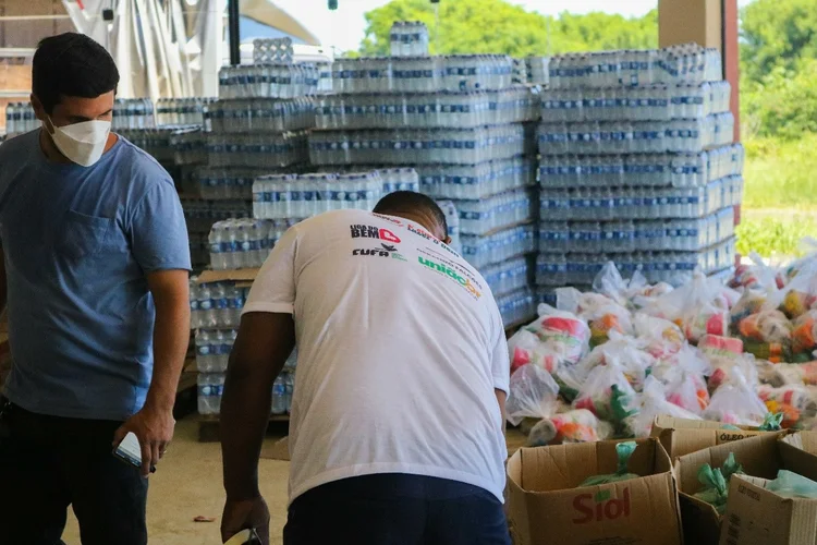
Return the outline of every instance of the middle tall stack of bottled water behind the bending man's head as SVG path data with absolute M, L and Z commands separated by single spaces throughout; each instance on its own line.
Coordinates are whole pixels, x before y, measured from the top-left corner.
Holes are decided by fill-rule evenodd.
M 321 169 L 414 167 L 423 193 L 453 201 L 462 254 L 499 294 L 507 323 L 533 314 L 524 256 L 535 251 L 523 124 L 535 96 L 511 77 L 502 56 L 342 59 L 309 135 Z

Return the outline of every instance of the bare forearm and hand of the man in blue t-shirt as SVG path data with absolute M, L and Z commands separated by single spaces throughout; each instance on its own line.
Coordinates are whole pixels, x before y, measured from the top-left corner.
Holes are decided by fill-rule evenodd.
M 173 438 L 173 403 L 190 344 L 190 286 L 186 270 L 160 270 L 147 275 L 156 305 L 154 375 L 145 407 L 114 435 L 119 445 L 129 432 L 142 446 L 142 474 L 147 476 Z

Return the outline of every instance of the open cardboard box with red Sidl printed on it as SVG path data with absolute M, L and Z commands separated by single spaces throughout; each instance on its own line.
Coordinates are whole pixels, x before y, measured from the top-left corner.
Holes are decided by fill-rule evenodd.
M 617 441 L 523 448 L 508 461 L 508 519 L 516 545 L 680 545 L 678 491 L 657 439 L 639 439 L 639 479 L 577 488 L 614 473 Z

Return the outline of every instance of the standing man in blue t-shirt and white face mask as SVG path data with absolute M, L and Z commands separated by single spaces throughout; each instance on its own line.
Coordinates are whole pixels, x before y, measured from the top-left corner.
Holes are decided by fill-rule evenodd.
M 173 436 L 190 340 L 184 215 L 173 182 L 112 134 L 119 72 L 90 38 L 34 56 L 42 128 L 0 146 L 0 543 L 147 543 L 147 475 Z M 112 456 L 133 432 L 141 469 Z

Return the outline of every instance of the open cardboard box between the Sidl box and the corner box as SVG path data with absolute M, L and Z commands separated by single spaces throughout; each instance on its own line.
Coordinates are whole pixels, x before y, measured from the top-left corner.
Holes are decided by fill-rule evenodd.
M 698 482 L 698 470 L 705 463 L 721 468 L 731 452 L 743 465 L 746 475 L 775 479 L 779 470 L 786 469 L 817 480 L 817 457 L 780 440 L 783 437 L 785 432 L 766 433 L 699 450 L 675 460 L 681 520 L 686 543 L 718 545 L 720 541 L 720 514 L 711 505 L 693 497 L 693 494 L 703 488 Z

